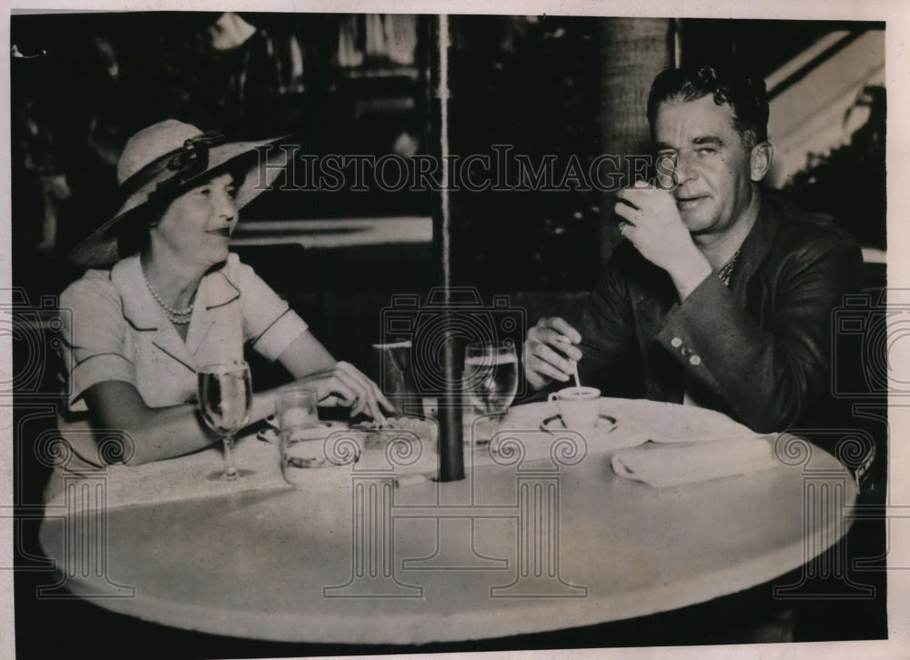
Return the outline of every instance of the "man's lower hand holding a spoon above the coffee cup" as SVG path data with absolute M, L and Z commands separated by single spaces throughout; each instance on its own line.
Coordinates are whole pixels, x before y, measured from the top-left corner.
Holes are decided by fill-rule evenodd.
M 522 360 L 528 385 L 539 390 L 552 380 L 565 382 L 581 360 L 578 330 L 559 316 L 541 318 L 524 341 Z

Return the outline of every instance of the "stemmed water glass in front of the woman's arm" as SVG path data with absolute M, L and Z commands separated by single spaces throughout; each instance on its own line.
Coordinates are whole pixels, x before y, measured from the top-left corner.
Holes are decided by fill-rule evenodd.
M 224 441 L 224 478 L 232 481 L 238 477 L 234 435 L 247 425 L 253 403 L 249 366 L 242 360 L 206 365 L 197 375 L 199 410 L 208 427 Z

